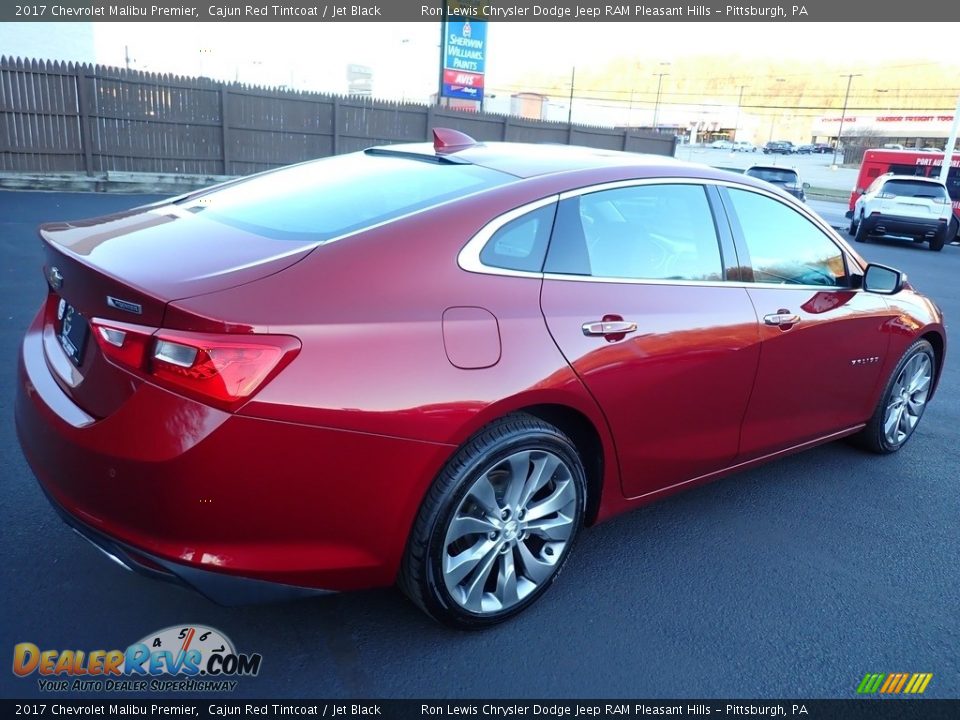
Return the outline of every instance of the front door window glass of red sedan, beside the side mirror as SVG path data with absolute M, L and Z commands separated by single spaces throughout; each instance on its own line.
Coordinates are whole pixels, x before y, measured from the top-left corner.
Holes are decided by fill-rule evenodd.
M 788 205 L 746 190 L 729 190 L 754 282 L 846 287 L 843 252 Z

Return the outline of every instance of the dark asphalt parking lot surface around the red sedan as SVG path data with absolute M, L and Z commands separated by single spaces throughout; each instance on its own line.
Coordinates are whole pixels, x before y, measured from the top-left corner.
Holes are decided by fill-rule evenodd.
M 933 673 L 926 696 L 960 696 L 955 350 L 900 453 L 833 443 L 616 518 L 582 535 L 535 608 L 479 634 L 392 589 L 222 608 L 106 562 L 20 454 L 15 358 L 44 293 L 35 226 L 151 199 L 0 192 L 0 652 L 124 648 L 200 623 L 263 655 L 230 697 L 849 698 L 867 672 Z M 960 247 L 858 249 L 960 316 Z M 41 695 L 0 672 L 0 696 Z

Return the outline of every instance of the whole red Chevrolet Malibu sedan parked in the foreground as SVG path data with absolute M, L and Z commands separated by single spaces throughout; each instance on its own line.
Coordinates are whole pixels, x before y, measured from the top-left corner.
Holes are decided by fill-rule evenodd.
M 435 136 L 40 228 L 16 420 L 70 525 L 222 602 L 396 582 L 482 627 L 584 525 L 916 430 L 940 311 L 802 204 Z

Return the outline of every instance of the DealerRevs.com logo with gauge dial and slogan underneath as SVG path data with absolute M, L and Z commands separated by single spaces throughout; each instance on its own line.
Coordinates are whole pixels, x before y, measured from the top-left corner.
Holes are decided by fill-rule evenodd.
M 226 692 L 236 688 L 234 678 L 255 677 L 262 661 L 204 625 L 173 625 L 126 650 L 13 648 L 14 675 L 39 676 L 45 692 Z

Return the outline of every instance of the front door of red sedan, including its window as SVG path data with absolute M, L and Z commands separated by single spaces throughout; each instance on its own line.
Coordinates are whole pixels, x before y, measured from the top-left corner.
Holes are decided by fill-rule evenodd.
M 742 459 L 865 422 L 882 378 L 887 302 L 814 216 L 773 193 L 721 189 L 761 334 Z

